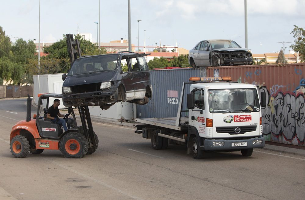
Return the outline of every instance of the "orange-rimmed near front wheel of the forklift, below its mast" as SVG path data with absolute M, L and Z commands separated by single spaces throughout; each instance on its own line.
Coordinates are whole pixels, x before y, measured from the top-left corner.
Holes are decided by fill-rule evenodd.
M 59 150 L 65 158 L 82 158 L 88 152 L 88 141 L 81 133 L 70 132 L 62 137 Z

